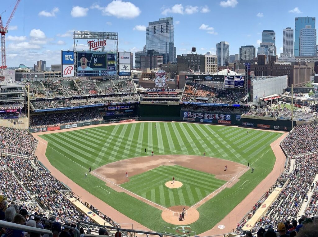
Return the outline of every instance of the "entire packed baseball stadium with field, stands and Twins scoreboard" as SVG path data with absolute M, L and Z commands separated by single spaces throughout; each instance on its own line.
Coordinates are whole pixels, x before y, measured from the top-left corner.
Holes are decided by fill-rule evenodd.
M 106 36 L 118 40 L 74 32 Z M 261 237 L 317 222 L 314 96 L 249 65 L 245 74 L 156 70 L 143 80 L 130 57 L 118 42 L 108 52 L 74 48 L 61 51 L 53 77 L 1 75 L 1 227 Z M 275 93 L 265 95 L 268 83 Z

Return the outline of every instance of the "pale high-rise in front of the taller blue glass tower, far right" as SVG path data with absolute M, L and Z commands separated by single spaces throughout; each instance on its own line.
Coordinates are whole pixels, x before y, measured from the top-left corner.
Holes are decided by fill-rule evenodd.
M 300 30 L 299 34 L 299 56 L 316 56 L 316 29 L 311 25 L 306 25 Z

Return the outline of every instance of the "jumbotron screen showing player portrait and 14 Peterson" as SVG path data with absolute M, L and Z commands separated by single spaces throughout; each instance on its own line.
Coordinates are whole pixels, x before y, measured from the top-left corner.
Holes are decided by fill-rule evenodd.
M 116 52 L 77 52 L 77 76 L 114 76 L 117 74 Z

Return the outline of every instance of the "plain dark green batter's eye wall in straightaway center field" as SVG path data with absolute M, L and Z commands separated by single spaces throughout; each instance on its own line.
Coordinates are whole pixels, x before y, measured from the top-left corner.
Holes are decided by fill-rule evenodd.
M 139 119 L 148 121 L 180 120 L 182 105 L 138 105 Z

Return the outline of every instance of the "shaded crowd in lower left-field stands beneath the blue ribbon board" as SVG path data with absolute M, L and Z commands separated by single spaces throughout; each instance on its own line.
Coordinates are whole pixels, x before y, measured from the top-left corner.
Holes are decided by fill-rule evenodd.
M 43 126 L 66 125 L 86 121 L 99 121 L 103 118 L 96 108 L 88 108 L 80 111 L 67 111 L 61 113 L 46 113 L 30 116 L 30 126 L 32 128 Z

